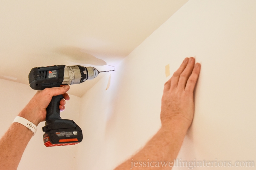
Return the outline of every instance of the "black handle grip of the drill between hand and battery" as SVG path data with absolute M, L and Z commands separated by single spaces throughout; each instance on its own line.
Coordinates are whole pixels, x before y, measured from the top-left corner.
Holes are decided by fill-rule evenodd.
M 63 98 L 62 94 L 52 97 L 50 104 L 46 108 L 46 121 L 51 119 L 61 119 L 59 105 Z

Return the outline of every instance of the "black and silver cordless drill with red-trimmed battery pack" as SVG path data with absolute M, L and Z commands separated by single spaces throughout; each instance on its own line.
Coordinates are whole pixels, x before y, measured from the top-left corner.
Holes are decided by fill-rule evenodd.
M 103 71 L 102 71 L 103 72 Z M 104 71 L 105 72 L 105 71 Z M 34 90 L 60 87 L 62 85 L 79 84 L 98 76 L 100 71 L 94 67 L 55 65 L 48 67 L 35 67 L 29 75 L 30 87 Z M 44 145 L 63 146 L 75 145 L 82 141 L 81 128 L 73 121 L 60 117 L 60 101 L 63 95 L 53 96 L 46 108 L 46 122 L 42 128 Z

